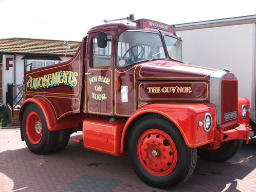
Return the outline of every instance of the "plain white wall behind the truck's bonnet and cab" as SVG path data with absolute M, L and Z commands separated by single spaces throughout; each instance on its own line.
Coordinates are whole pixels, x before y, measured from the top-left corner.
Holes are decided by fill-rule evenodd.
M 188 63 L 228 68 L 239 80 L 239 97 L 255 105 L 255 24 L 177 31 Z M 251 100 L 252 99 L 252 100 Z

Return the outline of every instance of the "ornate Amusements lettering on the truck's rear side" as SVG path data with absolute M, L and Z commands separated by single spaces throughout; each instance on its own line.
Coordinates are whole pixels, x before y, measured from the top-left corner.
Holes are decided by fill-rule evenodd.
M 48 89 L 64 85 L 73 89 L 77 85 L 77 76 L 78 73 L 73 71 L 58 71 L 39 78 L 28 76 L 27 88 L 29 90 L 41 90 L 42 88 Z

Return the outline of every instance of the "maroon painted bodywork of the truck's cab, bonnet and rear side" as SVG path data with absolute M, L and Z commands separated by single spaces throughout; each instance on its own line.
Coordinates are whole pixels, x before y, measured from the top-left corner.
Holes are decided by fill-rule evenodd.
M 60 85 L 41 90 L 26 88 L 25 97 L 43 97 L 52 106 L 57 121 L 70 113 L 80 112 L 129 117 L 139 107 L 160 101 L 209 103 L 209 76 L 214 72 L 213 69 L 182 64 L 172 61 L 168 56 L 163 60 L 138 63 L 122 69 L 116 67 L 116 42 L 119 34 L 125 30 L 155 32 L 160 34 L 161 38 L 162 35 L 168 34 L 180 39 L 173 26 L 157 22 L 150 26 L 151 24 L 150 21 L 141 19 L 130 23 L 109 23 L 90 29 L 70 61 L 25 73 L 27 84 L 29 76 L 40 78 L 58 71 L 73 71 L 78 74 L 77 85 L 74 88 Z M 92 66 L 93 38 L 99 31 L 105 31 L 113 37 L 111 65 L 107 67 Z M 118 77 L 120 86 L 128 86 L 129 102 L 122 102 L 121 93 L 115 91 L 115 81 Z M 97 78 L 102 80 L 92 83 Z M 107 81 L 107 84 L 104 81 Z M 168 93 L 167 87 L 176 86 L 185 92 Z M 160 87 L 167 91 L 151 94 L 148 87 Z M 186 89 L 190 91 L 186 92 Z

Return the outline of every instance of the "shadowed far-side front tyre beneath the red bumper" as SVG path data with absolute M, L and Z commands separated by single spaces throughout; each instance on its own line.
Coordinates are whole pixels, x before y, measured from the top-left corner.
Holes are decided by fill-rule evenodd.
M 234 157 L 242 144 L 243 140 L 226 141 L 216 150 L 197 149 L 197 155 L 207 161 L 224 162 Z

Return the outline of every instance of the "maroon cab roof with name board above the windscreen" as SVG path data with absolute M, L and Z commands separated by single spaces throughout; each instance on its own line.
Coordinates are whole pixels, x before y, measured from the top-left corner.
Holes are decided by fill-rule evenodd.
M 126 30 L 136 30 L 136 31 L 151 31 L 157 32 L 161 31 L 163 34 L 170 34 L 180 39 L 180 37 L 176 34 L 174 25 L 167 25 L 164 23 L 159 23 L 153 20 L 148 20 L 146 18 L 140 18 L 135 21 L 115 21 L 110 23 L 105 23 L 102 25 L 95 26 L 91 28 L 88 33 L 102 31 L 106 29 L 114 29 L 120 34 L 122 31 Z

